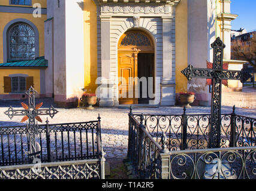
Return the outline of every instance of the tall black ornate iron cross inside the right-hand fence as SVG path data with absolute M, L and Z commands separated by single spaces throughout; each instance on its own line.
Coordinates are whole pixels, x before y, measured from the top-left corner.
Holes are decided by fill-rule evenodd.
M 213 48 L 213 67 L 212 69 L 194 68 L 189 65 L 181 72 L 186 76 L 188 81 L 192 78 L 211 78 L 212 79 L 212 105 L 210 118 L 210 148 L 218 148 L 221 138 L 221 87 L 222 79 L 237 79 L 242 83 L 251 78 L 248 72 L 237 70 L 224 70 L 223 49 L 225 44 L 218 37 L 211 45 Z

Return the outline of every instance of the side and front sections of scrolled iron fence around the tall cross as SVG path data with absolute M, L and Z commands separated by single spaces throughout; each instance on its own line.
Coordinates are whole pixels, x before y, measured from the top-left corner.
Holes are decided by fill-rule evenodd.
M 256 146 L 171 150 L 167 148 L 170 143 L 167 131 L 158 131 L 153 137 L 156 134 L 148 132 L 144 116 L 129 113 L 128 158 L 137 178 L 256 178 Z M 228 132 L 227 135 L 233 133 Z

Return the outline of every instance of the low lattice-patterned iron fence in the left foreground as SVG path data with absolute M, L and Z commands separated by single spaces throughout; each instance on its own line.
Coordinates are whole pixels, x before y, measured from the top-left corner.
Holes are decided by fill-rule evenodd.
M 98 159 L 0 167 L 0 179 L 98 179 L 104 177 Z

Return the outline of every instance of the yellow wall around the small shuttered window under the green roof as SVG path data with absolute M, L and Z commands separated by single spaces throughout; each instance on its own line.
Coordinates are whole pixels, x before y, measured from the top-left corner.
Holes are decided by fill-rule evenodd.
M 40 70 L 39 69 L 0 69 L 0 94 L 4 93 L 4 76 L 22 73 L 34 77 L 34 89 L 40 94 Z

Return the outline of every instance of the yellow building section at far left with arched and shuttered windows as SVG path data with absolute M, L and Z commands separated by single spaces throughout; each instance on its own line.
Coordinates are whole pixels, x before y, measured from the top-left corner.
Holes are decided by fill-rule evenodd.
M 33 8 L 36 3 L 41 5 L 40 17 Z M 31 85 L 40 96 L 46 94 L 46 7 L 46 0 L 0 2 L 0 100 L 25 98 L 24 91 Z

